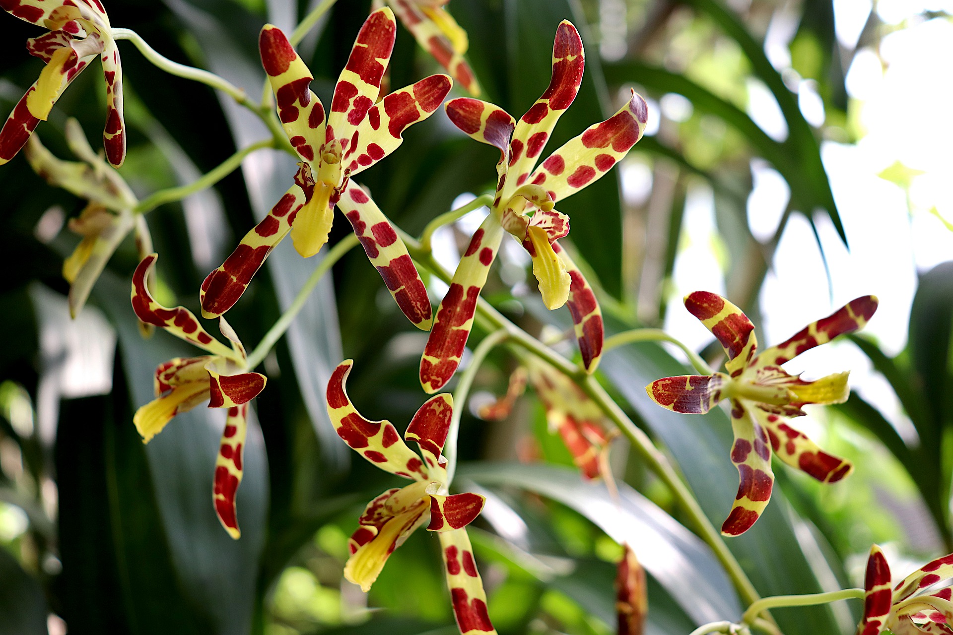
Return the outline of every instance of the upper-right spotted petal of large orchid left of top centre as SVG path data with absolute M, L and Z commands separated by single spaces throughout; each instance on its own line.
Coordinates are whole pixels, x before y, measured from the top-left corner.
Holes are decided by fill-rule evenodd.
M 446 75 L 424 77 L 395 90 L 361 118 L 344 152 L 344 165 L 354 176 L 370 168 L 403 143 L 403 131 L 436 112 L 453 82 Z

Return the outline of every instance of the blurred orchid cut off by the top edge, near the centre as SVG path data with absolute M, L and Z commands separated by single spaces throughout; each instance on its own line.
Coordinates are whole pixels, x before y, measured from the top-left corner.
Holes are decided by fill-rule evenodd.
M 372 6 L 383 7 L 384 2 L 414 35 L 417 44 L 433 55 L 457 84 L 474 97 L 479 96 L 474 71 L 463 58 L 470 47 L 467 31 L 443 8 L 450 0 L 375 0 Z

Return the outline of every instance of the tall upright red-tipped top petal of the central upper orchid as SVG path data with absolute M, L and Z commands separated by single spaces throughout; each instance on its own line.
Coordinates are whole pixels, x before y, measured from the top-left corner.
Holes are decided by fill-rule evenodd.
M 508 184 L 508 190 L 523 185 L 536 166 L 539 153 L 545 148 L 559 117 L 576 99 L 584 67 L 585 54 L 578 30 L 569 20 L 563 20 L 559 23 L 553 42 L 553 76 L 549 87 L 519 118 L 513 133 L 510 174 L 516 180 Z M 508 193 L 504 194 L 504 198 Z

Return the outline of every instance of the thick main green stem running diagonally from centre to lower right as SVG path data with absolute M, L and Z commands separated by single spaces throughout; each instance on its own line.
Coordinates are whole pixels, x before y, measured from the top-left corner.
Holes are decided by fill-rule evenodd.
M 399 231 L 399 233 L 407 245 L 407 250 L 416 262 L 430 269 L 444 282 L 450 282 L 452 278 L 450 271 L 447 271 L 436 262 L 433 253 L 424 250 L 420 243 L 408 236 L 405 232 Z M 552 348 L 539 342 L 539 340 L 522 328 L 517 327 L 517 325 L 510 322 L 497 311 L 496 308 L 491 307 L 483 298 L 478 299 L 476 312 L 476 317 L 479 318 L 478 323 L 481 326 L 485 323 L 489 325 L 490 330 L 505 330 L 510 340 L 572 378 L 573 381 L 596 402 L 598 407 L 613 421 L 632 446 L 639 452 L 639 455 L 645 461 L 646 465 L 672 490 L 679 504 L 691 519 L 692 524 L 699 531 L 701 539 L 705 541 L 708 546 L 711 546 L 721 566 L 724 566 L 728 576 L 738 589 L 742 602 L 746 605 L 751 605 L 760 600 L 758 591 L 755 590 L 754 585 L 748 580 L 747 575 L 745 575 L 744 570 L 741 568 L 734 554 L 728 549 L 728 546 L 725 545 L 718 529 L 711 524 L 711 521 L 708 520 L 708 517 L 705 516 L 701 510 L 701 506 L 691 490 L 682 482 L 675 469 L 669 464 L 668 459 L 652 443 L 649 436 L 632 423 L 632 420 L 618 407 L 618 404 L 613 401 L 605 389 L 599 385 L 596 378 L 588 375 L 583 368 L 571 363 Z

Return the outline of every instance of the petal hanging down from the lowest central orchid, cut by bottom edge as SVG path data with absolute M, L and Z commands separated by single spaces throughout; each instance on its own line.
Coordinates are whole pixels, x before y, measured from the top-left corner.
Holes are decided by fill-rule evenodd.
M 443 566 L 447 574 L 447 586 L 454 605 L 456 625 L 462 635 L 494 633 L 497 630 L 490 622 L 486 610 L 486 592 L 483 580 L 476 570 L 474 549 L 470 545 L 467 530 L 443 531 L 440 547 L 443 551 Z

